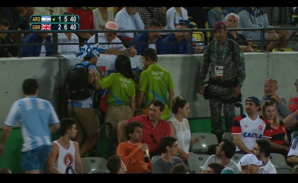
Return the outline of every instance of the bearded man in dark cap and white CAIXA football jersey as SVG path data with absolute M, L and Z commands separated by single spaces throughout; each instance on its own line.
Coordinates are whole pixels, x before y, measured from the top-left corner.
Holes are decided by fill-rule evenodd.
M 245 100 L 246 113 L 237 116 L 232 125 L 233 142 L 236 153 L 253 154 L 256 139 L 269 141 L 271 136 L 270 122 L 259 116 L 260 100 L 248 97 Z

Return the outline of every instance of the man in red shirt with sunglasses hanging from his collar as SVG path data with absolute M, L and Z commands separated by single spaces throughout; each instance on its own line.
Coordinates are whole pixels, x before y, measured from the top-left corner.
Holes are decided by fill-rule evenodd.
M 162 137 L 171 135 L 168 122 L 160 119 L 165 111 L 165 103 L 160 100 L 152 100 L 149 115 L 140 115 L 118 123 L 118 142 L 123 142 L 123 132 L 131 121 L 139 121 L 143 124 L 142 143 L 148 144 L 150 157 L 160 155 L 159 141 Z M 176 140 L 175 140 L 176 141 Z

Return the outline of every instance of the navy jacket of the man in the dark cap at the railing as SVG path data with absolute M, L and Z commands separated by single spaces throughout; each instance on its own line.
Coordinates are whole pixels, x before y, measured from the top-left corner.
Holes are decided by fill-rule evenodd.
M 164 38 L 164 42 L 174 42 L 175 33 L 169 35 Z M 189 46 L 186 38 L 181 40 L 181 43 L 168 43 L 165 44 L 165 52 L 166 54 L 189 54 Z

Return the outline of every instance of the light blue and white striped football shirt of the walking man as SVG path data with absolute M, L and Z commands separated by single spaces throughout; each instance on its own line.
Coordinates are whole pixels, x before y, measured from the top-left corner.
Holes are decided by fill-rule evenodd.
M 14 102 L 4 122 L 13 127 L 20 123 L 24 139 L 22 152 L 42 145 L 51 145 L 50 124 L 60 123 L 51 102 L 38 98 L 26 97 Z

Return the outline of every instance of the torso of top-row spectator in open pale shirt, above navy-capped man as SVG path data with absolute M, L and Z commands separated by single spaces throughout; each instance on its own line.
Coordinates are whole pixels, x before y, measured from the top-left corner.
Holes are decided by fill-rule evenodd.
M 166 12 L 167 14 L 167 26 L 166 29 L 175 29 L 179 20 L 187 20 L 187 10 L 183 7 L 171 7 Z M 169 33 L 171 34 L 171 33 Z

